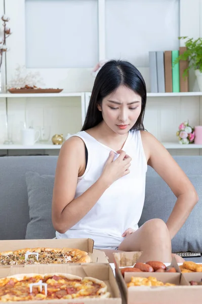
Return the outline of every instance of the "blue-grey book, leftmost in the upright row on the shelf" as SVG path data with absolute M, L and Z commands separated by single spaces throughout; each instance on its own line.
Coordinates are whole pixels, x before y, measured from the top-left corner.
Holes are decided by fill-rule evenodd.
M 158 93 L 156 52 L 149 52 L 150 92 Z

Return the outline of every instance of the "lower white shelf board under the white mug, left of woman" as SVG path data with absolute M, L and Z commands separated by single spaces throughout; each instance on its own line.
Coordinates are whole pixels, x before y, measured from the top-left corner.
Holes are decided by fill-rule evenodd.
M 34 145 L 22 144 L 0 144 L 0 150 L 55 150 L 60 149 L 61 145 L 35 143 Z

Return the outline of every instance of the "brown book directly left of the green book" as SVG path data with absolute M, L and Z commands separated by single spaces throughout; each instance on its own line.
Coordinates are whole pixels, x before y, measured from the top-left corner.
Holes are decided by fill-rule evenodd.
M 173 78 L 172 78 L 172 51 L 164 52 L 165 65 L 165 91 L 166 93 L 173 92 Z

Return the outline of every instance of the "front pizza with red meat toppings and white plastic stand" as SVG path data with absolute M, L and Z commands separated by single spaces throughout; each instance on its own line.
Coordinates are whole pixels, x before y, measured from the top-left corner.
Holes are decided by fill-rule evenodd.
M 98 279 L 70 274 L 20 274 L 0 279 L 0 301 L 107 298 L 107 285 Z

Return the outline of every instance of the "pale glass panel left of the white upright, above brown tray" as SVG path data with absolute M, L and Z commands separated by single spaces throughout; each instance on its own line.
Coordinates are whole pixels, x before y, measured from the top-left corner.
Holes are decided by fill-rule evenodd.
M 26 67 L 92 67 L 98 61 L 97 0 L 25 0 Z

